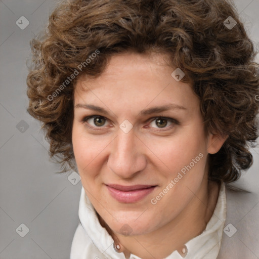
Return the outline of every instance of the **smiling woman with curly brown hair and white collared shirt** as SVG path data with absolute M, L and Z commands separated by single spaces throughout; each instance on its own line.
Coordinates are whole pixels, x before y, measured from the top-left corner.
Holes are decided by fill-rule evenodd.
M 63 2 L 31 47 L 28 112 L 81 177 L 71 259 L 254 256 L 226 184 L 252 164 L 258 65 L 229 2 Z

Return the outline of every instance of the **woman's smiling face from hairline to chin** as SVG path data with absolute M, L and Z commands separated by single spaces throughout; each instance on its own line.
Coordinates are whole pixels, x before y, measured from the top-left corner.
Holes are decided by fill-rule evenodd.
M 198 97 L 174 70 L 161 55 L 125 53 L 75 86 L 72 143 L 81 183 L 114 232 L 165 226 L 205 176 L 213 145 Z

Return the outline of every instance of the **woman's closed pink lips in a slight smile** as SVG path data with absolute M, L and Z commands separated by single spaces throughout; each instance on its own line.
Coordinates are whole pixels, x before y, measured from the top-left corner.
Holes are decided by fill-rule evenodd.
M 116 184 L 106 185 L 111 196 L 119 202 L 123 203 L 134 203 L 149 193 L 151 193 L 156 186 L 152 185 L 132 185 L 132 186 L 122 186 Z

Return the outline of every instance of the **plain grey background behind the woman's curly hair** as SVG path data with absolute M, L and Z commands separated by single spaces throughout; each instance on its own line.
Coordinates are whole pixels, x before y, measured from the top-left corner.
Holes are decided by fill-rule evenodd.
M 26 112 L 29 40 L 45 28 L 55 3 L 50 0 L 0 0 L 1 259 L 69 258 L 78 224 L 81 182 L 72 184 L 68 180 L 71 172 L 55 174 L 60 168 L 49 160 L 48 143 L 40 132 L 40 123 Z M 258 48 L 259 0 L 235 3 Z M 29 21 L 24 30 L 16 25 L 21 16 Z M 239 183 L 257 191 L 259 148 L 251 152 L 254 164 Z M 258 207 L 257 202 L 259 200 L 254 204 Z M 21 224 L 29 228 L 25 237 L 20 236 L 26 230 Z

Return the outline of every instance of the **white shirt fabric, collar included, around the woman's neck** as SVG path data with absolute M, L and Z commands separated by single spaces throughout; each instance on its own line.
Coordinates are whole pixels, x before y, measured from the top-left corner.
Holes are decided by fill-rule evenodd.
M 79 202 L 80 223 L 74 234 L 70 259 L 125 259 L 123 252 L 113 248 L 113 239 L 101 226 L 96 212 L 82 187 Z M 222 184 L 217 205 L 206 229 L 199 236 L 186 243 L 188 253 L 185 259 L 216 259 L 221 247 L 223 228 L 226 220 L 226 189 Z M 165 259 L 182 259 L 178 251 Z M 131 255 L 130 259 L 141 259 Z

